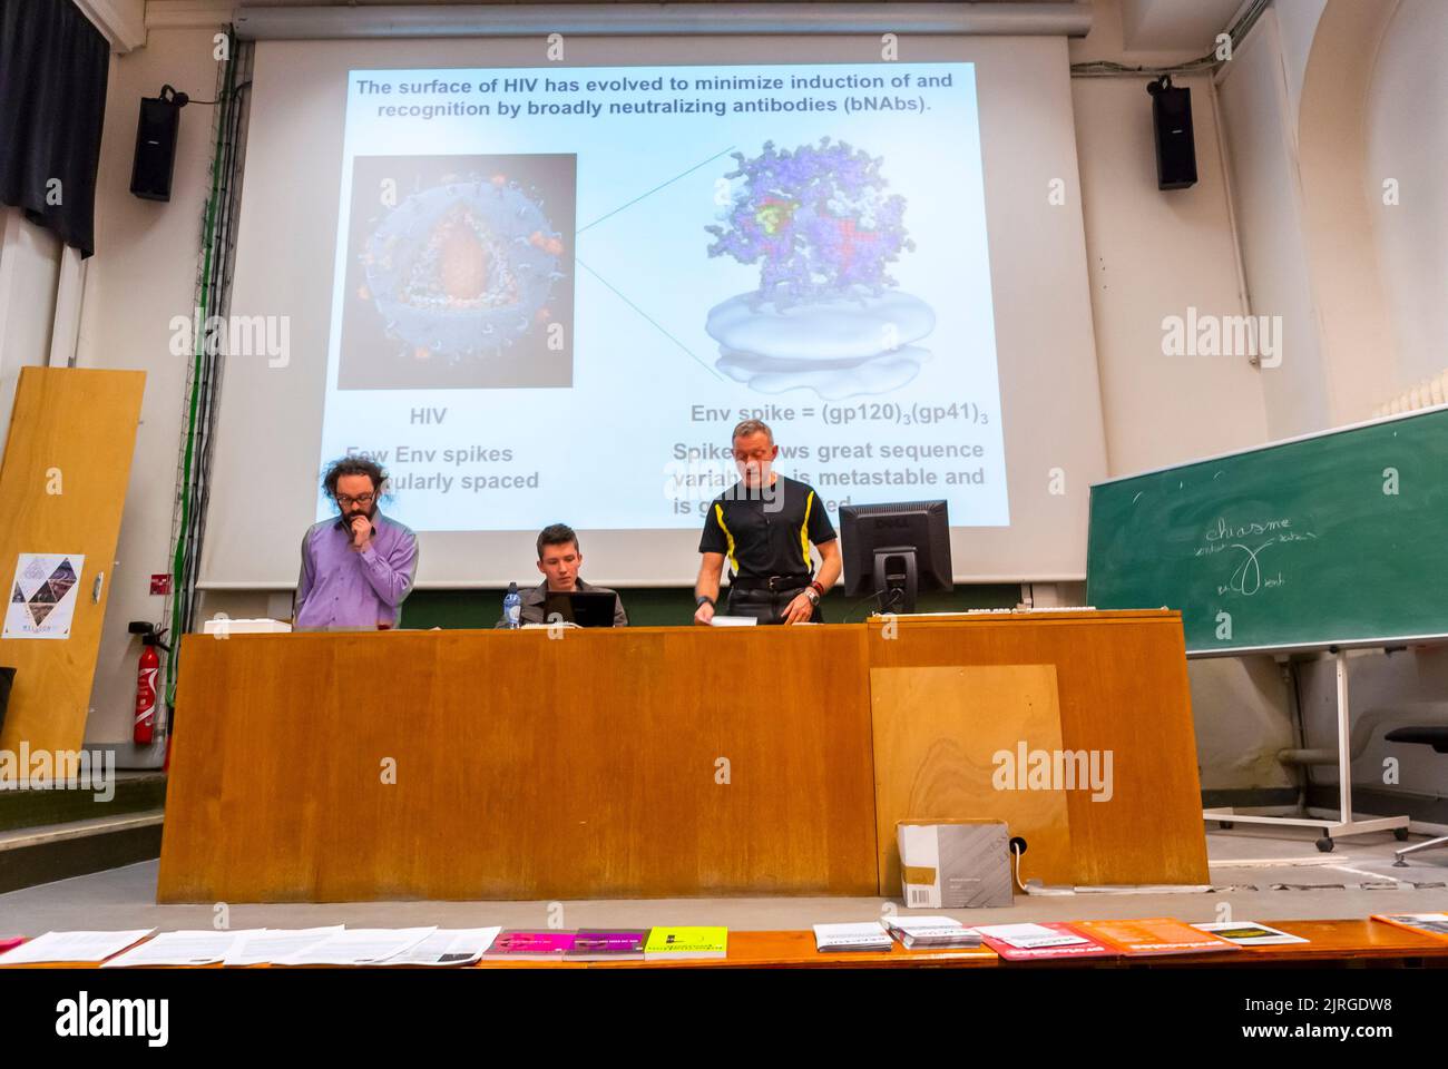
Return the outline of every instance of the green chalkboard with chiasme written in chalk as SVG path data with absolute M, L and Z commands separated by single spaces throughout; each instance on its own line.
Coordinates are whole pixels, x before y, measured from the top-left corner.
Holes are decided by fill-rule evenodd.
M 1448 410 L 1098 484 L 1086 572 L 1189 653 L 1448 636 Z

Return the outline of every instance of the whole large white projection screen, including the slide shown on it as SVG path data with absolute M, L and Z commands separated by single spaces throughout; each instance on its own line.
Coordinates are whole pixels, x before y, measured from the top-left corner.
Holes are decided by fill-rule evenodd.
M 1085 575 L 1106 474 L 1064 38 L 259 42 L 207 588 L 295 582 L 324 464 L 418 585 L 692 582 L 730 429 L 944 498 L 957 581 Z M 275 342 L 284 340 L 285 345 Z M 235 349 L 236 346 L 233 346 Z M 245 349 L 245 346 L 242 346 Z

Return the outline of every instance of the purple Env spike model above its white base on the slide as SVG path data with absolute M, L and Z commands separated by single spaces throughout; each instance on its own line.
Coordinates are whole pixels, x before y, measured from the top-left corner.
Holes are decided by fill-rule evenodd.
M 753 159 L 733 156 L 738 168 L 724 175 L 737 180 L 728 227 L 705 229 L 717 238 L 710 256 L 760 265 L 756 307 L 877 295 L 896 284 L 886 265 L 915 243 L 905 198 L 886 193 L 882 158 L 830 138 L 794 151 L 766 141 Z

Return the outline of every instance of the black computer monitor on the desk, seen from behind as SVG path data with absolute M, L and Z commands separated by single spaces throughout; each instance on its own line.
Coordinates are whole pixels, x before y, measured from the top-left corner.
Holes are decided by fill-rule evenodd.
M 844 594 L 875 591 L 880 611 L 914 613 L 922 590 L 954 590 L 944 501 L 840 506 Z

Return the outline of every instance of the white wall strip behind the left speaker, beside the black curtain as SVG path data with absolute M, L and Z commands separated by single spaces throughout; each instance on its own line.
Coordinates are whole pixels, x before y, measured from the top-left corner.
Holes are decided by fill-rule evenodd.
M 211 109 L 181 113 L 169 203 L 130 196 L 142 96 L 164 83 L 216 98 L 214 29 L 152 29 L 145 48 L 113 56 L 96 196 L 96 256 L 85 280 L 80 366 L 146 372 L 126 511 L 111 569 L 87 743 L 129 742 L 139 645 L 129 620 L 159 621 L 152 572 L 169 572 L 171 520 L 182 433 L 187 358 L 169 352 L 169 320 L 191 311 L 201 213 L 210 191 Z M 264 484 L 264 478 L 258 478 Z M 256 492 L 256 487 L 248 488 Z M 258 507 L 262 507 L 259 503 Z M 152 755 L 159 759 L 159 755 Z

